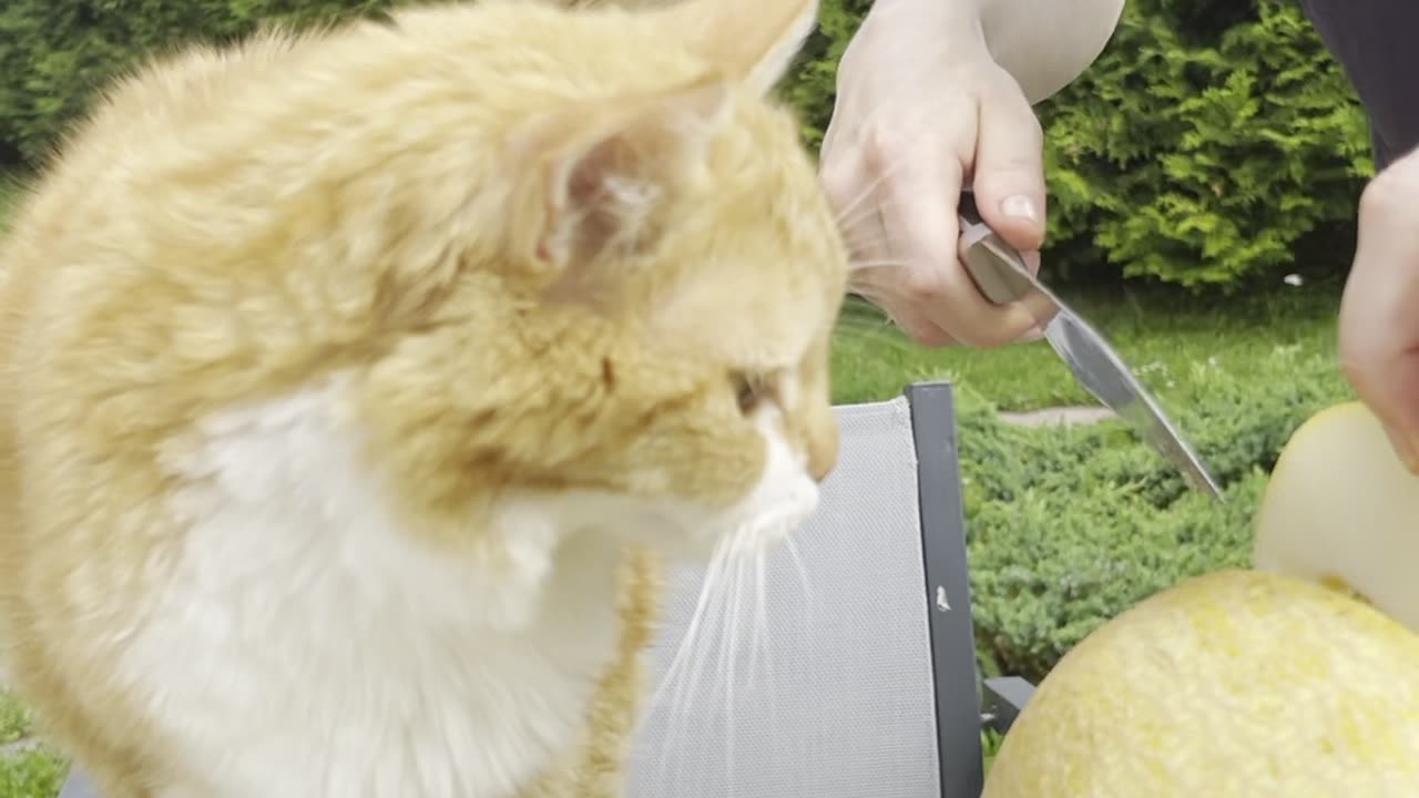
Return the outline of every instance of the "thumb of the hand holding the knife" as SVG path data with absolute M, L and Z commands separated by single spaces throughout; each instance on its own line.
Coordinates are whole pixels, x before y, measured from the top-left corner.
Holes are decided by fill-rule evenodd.
M 1044 243 L 1044 135 L 1007 72 L 981 95 L 972 190 L 986 224 L 1017 250 Z

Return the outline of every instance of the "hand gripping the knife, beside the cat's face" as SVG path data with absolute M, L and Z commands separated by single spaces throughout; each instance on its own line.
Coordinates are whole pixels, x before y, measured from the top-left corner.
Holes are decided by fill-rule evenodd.
M 921 344 L 1037 337 L 1030 307 L 992 304 L 959 261 L 964 185 L 1033 271 L 1046 212 L 1040 124 L 971 6 L 877 0 L 837 80 L 822 173 L 853 254 L 851 290 Z

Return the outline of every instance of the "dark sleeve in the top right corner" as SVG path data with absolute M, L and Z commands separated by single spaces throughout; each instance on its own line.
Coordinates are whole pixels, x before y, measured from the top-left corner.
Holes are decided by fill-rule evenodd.
M 1375 168 L 1419 145 L 1419 0 L 1301 0 L 1369 114 Z

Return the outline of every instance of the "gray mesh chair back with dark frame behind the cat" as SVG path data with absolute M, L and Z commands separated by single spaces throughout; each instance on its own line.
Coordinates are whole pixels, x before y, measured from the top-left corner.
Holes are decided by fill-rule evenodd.
M 768 558 L 758 643 L 759 606 L 741 592 L 755 574 L 721 572 L 727 595 L 695 622 L 707 571 L 674 572 L 630 798 L 981 794 L 951 389 L 912 386 L 837 419 L 823 501 L 792 550 Z M 673 665 L 691 628 L 697 642 Z

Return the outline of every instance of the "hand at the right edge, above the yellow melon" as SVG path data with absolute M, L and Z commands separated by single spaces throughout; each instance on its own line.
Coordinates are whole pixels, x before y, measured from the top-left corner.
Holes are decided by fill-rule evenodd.
M 1419 473 L 1419 152 L 1395 160 L 1361 197 L 1340 355 L 1401 460 Z

